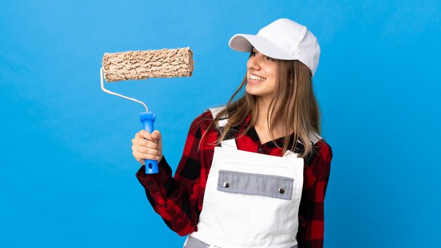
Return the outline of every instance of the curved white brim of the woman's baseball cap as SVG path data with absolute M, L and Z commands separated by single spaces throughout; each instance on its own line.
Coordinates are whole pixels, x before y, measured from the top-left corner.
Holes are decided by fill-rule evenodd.
M 257 35 L 234 35 L 228 42 L 228 46 L 236 51 L 251 51 L 254 46 L 261 54 L 265 54 L 271 58 L 283 60 L 297 59 L 294 55 L 280 48 L 280 46 L 277 46 L 269 39 Z

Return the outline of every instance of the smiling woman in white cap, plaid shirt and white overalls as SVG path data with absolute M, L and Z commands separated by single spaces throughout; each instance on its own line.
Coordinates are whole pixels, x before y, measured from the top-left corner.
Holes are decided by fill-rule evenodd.
M 159 161 L 159 174 L 142 166 L 137 178 L 168 227 L 190 234 L 184 247 L 323 247 L 332 151 L 318 136 L 316 37 L 279 19 L 229 45 L 250 52 L 240 87 L 192 122 L 174 178 L 161 133 L 137 132 L 135 159 Z

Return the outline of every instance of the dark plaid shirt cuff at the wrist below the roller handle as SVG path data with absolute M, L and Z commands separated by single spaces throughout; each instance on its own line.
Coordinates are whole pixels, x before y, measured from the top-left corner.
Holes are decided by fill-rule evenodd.
M 136 177 L 146 190 L 159 190 L 158 185 L 162 185 L 171 176 L 171 168 L 166 161 L 166 157 L 163 156 L 158 163 L 159 173 L 146 174 L 145 166 L 141 166 L 136 173 Z

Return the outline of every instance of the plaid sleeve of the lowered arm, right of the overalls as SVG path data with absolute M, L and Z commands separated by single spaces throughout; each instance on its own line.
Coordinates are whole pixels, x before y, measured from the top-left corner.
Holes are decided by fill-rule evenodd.
M 311 160 L 305 160 L 304 186 L 299 207 L 299 248 L 321 248 L 324 238 L 324 201 L 330 175 L 333 151 L 320 140 L 316 143 L 318 153 Z

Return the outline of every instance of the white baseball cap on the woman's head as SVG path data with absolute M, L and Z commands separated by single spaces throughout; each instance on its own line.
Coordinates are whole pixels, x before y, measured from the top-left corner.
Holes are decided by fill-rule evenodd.
M 304 25 L 286 18 L 263 27 L 257 35 L 233 35 L 228 46 L 236 51 L 251 51 L 254 46 L 271 58 L 301 61 L 312 75 L 316 73 L 320 58 L 317 38 Z

